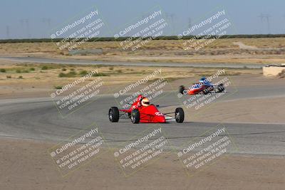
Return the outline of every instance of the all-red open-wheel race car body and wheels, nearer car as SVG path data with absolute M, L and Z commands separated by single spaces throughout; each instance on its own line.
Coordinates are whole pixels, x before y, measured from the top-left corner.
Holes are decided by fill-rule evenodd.
M 134 110 L 119 110 L 118 107 L 110 107 L 110 122 L 118 122 L 120 118 L 130 119 L 134 124 L 139 122 L 165 123 L 170 120 L 181 123 L 184 121 L 184 111 L 181 107 L 177 107 L 175 112 L 162 113 L 157 110 L 157 106 L 155 105 L 141 106 Z

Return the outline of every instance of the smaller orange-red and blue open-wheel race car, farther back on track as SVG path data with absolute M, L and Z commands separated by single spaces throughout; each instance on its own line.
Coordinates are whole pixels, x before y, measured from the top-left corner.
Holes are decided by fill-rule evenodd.
M 179 93 L 182 95 L 197 95 L 199 93 L 207 95 L 208 93 L 222 93 L 224 90 L 224 84 L 212 84 L 206 78 L 201 78 L 199 83 L 194 83 L 190 88 L 185 88 L 183 85 L 179 87 Z

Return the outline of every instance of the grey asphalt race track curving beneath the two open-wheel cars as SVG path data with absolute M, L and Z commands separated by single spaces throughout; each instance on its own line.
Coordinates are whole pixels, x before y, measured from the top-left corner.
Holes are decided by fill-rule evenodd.
M 229 89 L 229 91 L 232 89 Z M 160 105 L 177 105 L 176 92 L 160 100 Z M 239 101 L 249 98 L 284 97 L 285 88 L 274 85 L 259 85 L 256 88 L 245 87 L 224 100 Z M 172 103 L 170 103 L 172 102 Z M 151 124 L 133 125 L 130 120 L 110 123 L 108 109 L 116 105 L 113 95 L 101 95 L 65 118 L 60 117 L 50 97 L 0 100 L 0 135 L 17 139 L 38 139 L 48 142 L 61 142 L 92 123 L 103 133 L 110 146 L 131 140 Z M 175 106 L 176 107 L 176 106 Z M 217 107 L 218 108 L 218 107 Z M 230 112 L 230 110 L 229 110 Z M 219 123 L 191 122 L 191 113 L 187 113 L 186 122 L 163 124 L 162 130 L 174 148 L 198 137 L 207 129 Z M 224 123 L 230 136 L 237 144 L 237 154 L 285 155 L 285 124 L 264 123 Z

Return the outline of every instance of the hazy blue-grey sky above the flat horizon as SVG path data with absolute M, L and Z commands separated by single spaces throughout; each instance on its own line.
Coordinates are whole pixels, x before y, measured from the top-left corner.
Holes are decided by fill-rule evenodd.
M 200 21 L 204 15 L 222 6 L 235 26 L 233 34 L 285 33 L 284 0 L 1 0 L 0 38 L 49 38 L 51 30 L 71 21 L 74 16 L 91 6 L 96 6 L 108 24 L 113 36 L 119 28 L 140 18 L 155 6 L 168 15 L 172 31 L 177 34 L 182 28 Z M 260 15 L 263 14 L 261 21 Z M 267 22 L 268 19 L 268 22 Z M 173 31 L 174 30 L 174 31 Z

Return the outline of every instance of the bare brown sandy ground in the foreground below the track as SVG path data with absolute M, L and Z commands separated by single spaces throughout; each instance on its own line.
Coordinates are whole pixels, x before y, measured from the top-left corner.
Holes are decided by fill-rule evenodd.
M 187 176 L 174 154 L 125 177 L 111 152 L 62 177 L 53 144 L 1 139 L 0 189 L 284 189 L 285 159 L 227 155 Z

